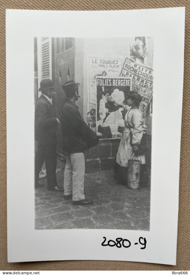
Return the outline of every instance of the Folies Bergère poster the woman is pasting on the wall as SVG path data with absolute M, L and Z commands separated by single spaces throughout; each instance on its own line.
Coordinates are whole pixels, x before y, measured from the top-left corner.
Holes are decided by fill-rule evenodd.
M 131 78 L 96 76 L 96 86 L 97 132 L 103 134 L 103 139 L 121 138 L 125 114 L 118 104 L 126 102 L 131 90 Z

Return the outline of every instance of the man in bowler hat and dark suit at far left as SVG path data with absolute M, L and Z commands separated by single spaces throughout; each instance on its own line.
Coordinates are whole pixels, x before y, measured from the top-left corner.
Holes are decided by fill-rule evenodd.
M 59 119 L 56 117 L 51 98 L 55 94 L 55 86 L 50 79 L 40 82 L 39 91 L 42 92 L 35 106 L 35 140 L 38 142 L 35 155 L 35 188 L 43 187 L 38 183 L 39 173 L 45 161 L 48 190 L 64 191 L 57 185 L 56 180 L 56 130 Z

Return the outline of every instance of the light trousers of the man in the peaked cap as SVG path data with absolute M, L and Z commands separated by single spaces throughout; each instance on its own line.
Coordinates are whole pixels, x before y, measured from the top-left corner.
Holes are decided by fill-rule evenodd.
M 84 153 L 67 153 L 64 172 L 64 195 L 73 193 L 73 201 L 84 200 Z

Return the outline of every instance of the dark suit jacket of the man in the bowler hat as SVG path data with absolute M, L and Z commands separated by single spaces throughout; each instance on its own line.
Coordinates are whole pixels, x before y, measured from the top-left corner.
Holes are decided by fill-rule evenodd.
M 55 145 L 57 125 L 53 106 L 46 97 L 41 95 L 35 106 L 35 140 L 38 144 Z

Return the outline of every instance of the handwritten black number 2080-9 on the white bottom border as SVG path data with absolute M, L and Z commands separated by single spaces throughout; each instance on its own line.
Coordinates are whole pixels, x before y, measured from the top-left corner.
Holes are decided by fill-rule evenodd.
M 107 244 L 105 244 L 106 242 L 106 237 L 103 237 L 104 241 L 102 242 L 102 246 L 116 246 L 117 248 L 121 248 L 122 246 L 125 248 L 128 248 L 131 246 L 131 242 L 127 239 L 122 239 L 122 238 L 116 238 L 115 241 L 113 240 L 109 240 Z M 141 240 L 143 240 L 144 242 L 142 242 Z M 146 248 L 146 238 L 140 237 L 139 238 L 139 243 L 144 245 L 144 247 L 141 247 L 141 249 L 145 249 Z M 135 243 L 138 244 L 138 243 Z

